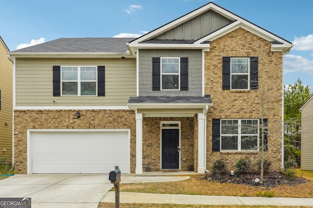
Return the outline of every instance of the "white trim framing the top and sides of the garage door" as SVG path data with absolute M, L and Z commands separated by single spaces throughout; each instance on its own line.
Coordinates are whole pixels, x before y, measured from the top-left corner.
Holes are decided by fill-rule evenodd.
M 27 174 L 32 174 L 32 132 L 128 132 L 128 153 L 131 154 L 131 130 L 130 129 L 27 129 Z M 131 161 L 128 161 L 131 166 Z M 129 167 L 131 168 L 131 167 Z M 131 171 L 131 170 L 130 170 Z

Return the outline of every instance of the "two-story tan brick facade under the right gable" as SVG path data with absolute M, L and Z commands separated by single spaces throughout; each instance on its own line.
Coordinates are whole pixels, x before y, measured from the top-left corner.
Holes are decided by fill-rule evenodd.
M 230 91 L 222 89 L 223 57 L 259 57 L 259 89 Z M 263 90 L 263 93 L 262 93 Z M 205 52 L 205 94 L 211 95 L 213 107 L 207 113 L 207 167 L 224 156 L 229 170 L 248 156 L 255 162 L 258 152 L 212 152 L 212 118 L 261 118 L 264 97 L 264 118 L 268 119 L 268 151 L 274 170 L 281 169 L 282 157 L 282 52 L 272 52 L 271 43 L 239 28 L 211 42 Z

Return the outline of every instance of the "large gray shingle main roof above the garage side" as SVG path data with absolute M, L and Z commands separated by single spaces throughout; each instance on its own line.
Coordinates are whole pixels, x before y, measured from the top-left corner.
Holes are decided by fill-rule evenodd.
M 135 38 L 59 38 L 22 48 L 19 53 L 126 53 Z

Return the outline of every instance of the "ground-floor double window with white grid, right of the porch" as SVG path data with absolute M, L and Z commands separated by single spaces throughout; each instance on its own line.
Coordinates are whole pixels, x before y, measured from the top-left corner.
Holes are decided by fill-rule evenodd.
M 257 151 L 258 119 L 222 119 L 221 151 Z

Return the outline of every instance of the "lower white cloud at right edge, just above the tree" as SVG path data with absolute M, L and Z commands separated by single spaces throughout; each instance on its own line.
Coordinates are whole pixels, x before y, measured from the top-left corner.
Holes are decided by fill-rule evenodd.
M 313 61 L 302 56 L 286 55 L 284 60 L 284 74 L 289 72 L 308 73 L 313 75 Z

